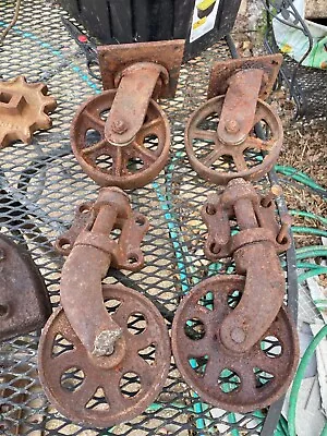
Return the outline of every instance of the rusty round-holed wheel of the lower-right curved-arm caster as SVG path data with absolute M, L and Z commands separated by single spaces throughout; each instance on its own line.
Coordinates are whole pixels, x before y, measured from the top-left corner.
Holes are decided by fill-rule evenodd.
M 240 413 L 267 407 L 284 393 L 299 358 L 295 327 L 284 308 L 247 353 L 223 347 L 219 327 L 240 301 L 244 283 L 242 276 L 203 281 L 182 300 L 172 326 L 172 352 L 186 383 L 208 403 Z

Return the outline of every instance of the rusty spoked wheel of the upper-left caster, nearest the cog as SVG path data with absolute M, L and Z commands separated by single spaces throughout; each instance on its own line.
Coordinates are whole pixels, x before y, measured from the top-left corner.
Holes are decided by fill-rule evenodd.
M 72 149 L 86 174 L 100 186 L 141 187 L 167 164 L 169 123 L 159 105 L 150 100 L 145 122 L 132 142 L 111 144 L 105 137 L 105 123 L 116 90 L 106 90 L 82 105 L 72 122 Z

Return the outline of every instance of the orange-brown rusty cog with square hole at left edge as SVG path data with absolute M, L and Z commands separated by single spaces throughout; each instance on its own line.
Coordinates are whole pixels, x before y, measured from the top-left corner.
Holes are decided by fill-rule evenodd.
M 51 128 L 48 113 L 57 102 L 47 96 L 43 83 L 27 83 L 24 76 L 0 82 L 0 148 L 15 141 L 29 144 L 36 130 Z

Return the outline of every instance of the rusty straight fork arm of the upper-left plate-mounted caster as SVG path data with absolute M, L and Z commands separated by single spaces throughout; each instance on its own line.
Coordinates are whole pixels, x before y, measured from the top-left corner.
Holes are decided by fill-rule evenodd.
M 131 144 L 144 124 L 157 82 L 168 83 L 169 76 L 164 66 L 154 62 L 136 62 L 123 70 L 105 125 L 109 144 L 120 147 Z

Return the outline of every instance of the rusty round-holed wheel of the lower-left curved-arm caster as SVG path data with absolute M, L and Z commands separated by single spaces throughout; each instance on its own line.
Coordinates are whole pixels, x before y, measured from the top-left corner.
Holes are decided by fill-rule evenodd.
M 113 354 L 87 354 L 59 308 L 43 331 L 38 367 L 60 413 L 80 424 L 110 427 L 134 419 L 155 400 L 171 352 L 165 320 L 149 300 L 121 284 L 102 289 L 107 311 L 123 329 Z

